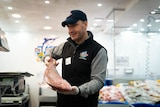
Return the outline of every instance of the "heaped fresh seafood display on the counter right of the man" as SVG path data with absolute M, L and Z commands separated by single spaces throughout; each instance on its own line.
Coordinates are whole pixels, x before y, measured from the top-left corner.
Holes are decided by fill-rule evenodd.
M 136 80 L 130 83 L 119 83 L 104 86 L 100 90 L 99 100 L 103 104 L 108 102 L 159 104 L 160 102 L 160 82 L 155 80 Z M 157 106 L 156 106 L 157 107 Z M 158 105 L 158 107 L 160 107 Z

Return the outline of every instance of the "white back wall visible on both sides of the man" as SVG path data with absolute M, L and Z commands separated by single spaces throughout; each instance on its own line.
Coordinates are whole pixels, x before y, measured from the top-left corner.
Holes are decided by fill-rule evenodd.
M 59 38 L 54 42 L 57 45 L 66 40 L 66 33 L 55 33 L 54 35 L 33 34 L 33 33 L 8 33 L 7 39 L 10 52 L 0 52 L 1 71 L 29 72 L 34 76 L 26 77 L 30 88 L 30 106 L 38 107 L 38 86 L 43 79 L 45 65 L 36 61 L 35 47 L 42 43 L 45 37 Z M 109 62 L 108 71 L 114 78 L 145 78 L 146 74 L 146 35 L 145 34 L 119 34 L 115 39 L 116 57 L 128 57 L 128 65 L 116 65 L 114 72 L 114 47 L 112 34 L 95 33 L 95 40 L 101 43 L 108 50 Z M 149 71 L 159 75 L 160 63 L 160 37 L 158 34 L 151 36 L 149 49 Z M 116 63 L 117 64 L 117 63 Z M 133 74 L 125 74 L 124 69 L 133 69 Z M 61 70 L 61 67 L 58 67 Z

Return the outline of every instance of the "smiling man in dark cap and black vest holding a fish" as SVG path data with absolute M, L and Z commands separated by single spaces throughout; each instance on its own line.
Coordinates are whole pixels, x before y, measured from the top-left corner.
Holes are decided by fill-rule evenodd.
M 62 58 L 62 77 L 71 85 L 71 89 L 65 90 L 53 87 L 58 92 L 57 107 L 97 107 L 99 90 L 106 77 L 107 50 L 87 31 L 84 12 L 72 10 L 62 26 L 68 27 L 68 41 L 44 57 L 46 65 L 50 61 L 48 56 L 55 60 Z

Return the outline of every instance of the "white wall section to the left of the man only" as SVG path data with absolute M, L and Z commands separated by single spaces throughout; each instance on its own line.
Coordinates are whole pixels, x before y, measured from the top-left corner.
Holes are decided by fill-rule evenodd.
M 0 52 L 0 72 L 29 72 L 34 76 L 26 77 L 29 84 L 30 106 L 38 107 L 38 86 L 43 80 L 45 65 L 37 62 L 35 48 L 43 43 L 44 38 L 59 38 L 54 44 L 65 41 L 67 36 L 63 33 L 55 35 L 32 34 L 32 33 L 7 33 L 10 52 Z M 54 45 L 53 44 L 53 45 Z

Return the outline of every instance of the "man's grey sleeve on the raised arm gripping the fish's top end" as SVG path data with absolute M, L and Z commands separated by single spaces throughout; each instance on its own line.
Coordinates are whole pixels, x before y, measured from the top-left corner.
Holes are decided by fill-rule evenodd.
M 65 42 L 64 42 L 64 43 L 61 43 L 61 44 L 58 45 L 58 46 L 55 46 L 55 47 L 52 48 L 52 49 L 49 49 L 49 50 L 46 52 L 45 56 L 43 57 L 43 62 L 44 62 L 44 60 L 45 60 L 45 58 L 46 58 L 47 56 L 52 57 L 52 58 L 54 58 L 54 59 L 56 59 L 56 60 L 62 58 L 62 50 L 63 50 L 64 44 L 65 44 Z

